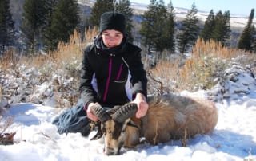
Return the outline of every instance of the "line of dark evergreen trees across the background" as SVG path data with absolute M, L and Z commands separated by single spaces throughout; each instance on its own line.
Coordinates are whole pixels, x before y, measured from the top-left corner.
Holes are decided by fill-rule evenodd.
M 189 52 L 198 38 L 204 41 L 218 41 L 223 46 L 230 46 L 230 12 L 210 10 L 204 24 L 197 17 L 198 10 L 193 3 L 186 18 L 175 22 L 174 6 L 170 0 L 167 6 L 162 0 L 150 0 L 142 14 L 141 44 L 148 49 L 170 53 Z M 0 54 L 22 39 L 22 47 L 27 53 L 38 49 L 54 51 L 58 42 L 67 43 L 74 29 L 98 27 L 100 16 L 106 11 L 117 11 L 126 15 L 126 31 L 129 41 L 134 41 L 132 30 L 133 10 L 129 0 L 97 0 L 86 18 L 81 21 L 77 0 L 25 0 L 23 3 L 22 22 L 16 29 L 10 12 L 10 0 L 0 0 Z M 251 10 L 246 27 L 238 41 L 238 49 L 256 52 L 256 29 L 253 23 L 254 9 Z

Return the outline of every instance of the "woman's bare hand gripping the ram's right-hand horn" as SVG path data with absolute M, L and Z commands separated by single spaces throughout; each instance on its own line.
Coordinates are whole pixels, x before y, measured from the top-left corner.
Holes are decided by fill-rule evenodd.
M 138 112 L 136 112 L 136 117 L 141 118 L 146 115 L 149 104 L 146 102 L 146 97 L 142 93 L 137 93 L 135 99 L 132 101 L 137 104 Z

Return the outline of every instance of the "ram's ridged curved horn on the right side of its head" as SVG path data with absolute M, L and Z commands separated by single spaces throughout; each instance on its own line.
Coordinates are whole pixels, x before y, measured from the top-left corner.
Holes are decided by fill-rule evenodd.
M 138 111 L 137 104 L 128 103 L 119 108 L 113 115 L 113 120 L 122 123 L 126 119 L 135 116 Z

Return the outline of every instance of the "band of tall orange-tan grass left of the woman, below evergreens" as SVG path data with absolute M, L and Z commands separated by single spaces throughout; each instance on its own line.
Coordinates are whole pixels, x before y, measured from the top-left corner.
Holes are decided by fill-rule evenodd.
M 24 64 L 40 69 L 46 65 L 46 62 L 54 62 L 55 68 L 60 68 L 63 62 L 70 62 L 74 59 L 80 60 L 82 49 L 92 41 L 96 34 L 97 30 L 95 28 L 86 29 L 85 38 L 82 40 L 78 30 L 74 30 L 74 33 L 70 35 L 70 41 L 68 43 L 59 42 L 58 48 L 55 51 L 51 53 L 38 53 L 30 57 L 17 55 L 14 49 L 8 50 L 1 58 L 0 67 L 5 71 L 6 69 L 13 68 L 15 65 Z

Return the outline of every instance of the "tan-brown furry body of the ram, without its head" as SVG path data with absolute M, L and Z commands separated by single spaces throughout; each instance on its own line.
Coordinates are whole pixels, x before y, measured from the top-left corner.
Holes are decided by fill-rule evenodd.
M 138 132 L 151 144 L 183 139 L 185 135 L 208 134 L 218 121 L 214 103 L 202 98 L 168 94 L 150 97 L 148 104 L 145 117 L 131 119 L 138 128 L 127 126 L 124 146 L 135 146 L 139 139 Z

